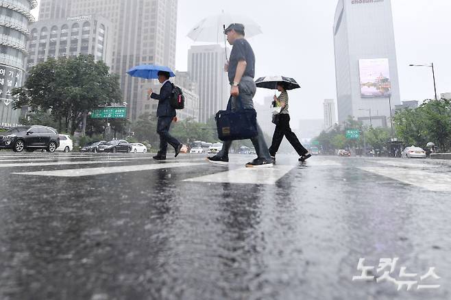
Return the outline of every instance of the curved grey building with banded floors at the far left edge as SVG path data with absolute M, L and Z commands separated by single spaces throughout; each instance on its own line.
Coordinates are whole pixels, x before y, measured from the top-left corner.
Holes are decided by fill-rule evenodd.
M 13 88 L 22 86 L 27 55 L 28 25 L 36 0 L 3 0 L 0 3 L 0 127 L 19 124 L 20 110 L 12 108 Z

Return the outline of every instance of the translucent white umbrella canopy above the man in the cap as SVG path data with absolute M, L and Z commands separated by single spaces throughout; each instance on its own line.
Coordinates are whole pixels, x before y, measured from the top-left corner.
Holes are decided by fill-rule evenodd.
M 241 23 L 244 25 L 246 38 L 251 38 L 262 33 L 260 25 L 252 21 L 249 17 L 223 12 L 204 18 L 191 29 L 187 36 L 195 42 L 219 43 L 224 36 L 223 26 L 226 25 L 228 27 L 232 23 Z

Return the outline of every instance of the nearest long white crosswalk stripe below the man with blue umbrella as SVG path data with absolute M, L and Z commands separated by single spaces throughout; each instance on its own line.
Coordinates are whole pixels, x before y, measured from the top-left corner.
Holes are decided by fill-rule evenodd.
M 105 166 L 100 168 L 75 168 L 69 170 L 56 170 L 56 171 L 37 171 L 37 172 L 24 172 L 24 173 L 12 173 L 16 175 L 36 175 L 36 176 L 53 176 L 53 177 L 80 177 L 80 176 L 95 176 L 106 175 L 113 173 L 126 173 L 136 171 L 157 170 L 160 168 L 181 168 L 188 166 L 198 166 L 206 163 L 193 163 L 193 162 L 162 162 L 158 164 L 141 164 L 136 166 Z

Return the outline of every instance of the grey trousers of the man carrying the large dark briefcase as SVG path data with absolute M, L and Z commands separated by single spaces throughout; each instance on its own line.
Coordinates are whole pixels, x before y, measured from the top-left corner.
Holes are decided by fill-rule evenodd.
M 241 79 L 239 91 L 243 108 L 254 108 L 254 101 L 252 100 L 252 98 L 254 98 L 256 89 L 257 88 L 255 86 L 254 79 L 252 77 L 243 77 Z M 232 110 L 234 110 L 234 108 L 236 107 L 235 105 L 236 99 L 232 97 L 229 101 Z M 252 142 L 252 145 L 254 145 L 257 157 L 261 160 L 266 160 L 269 162 L 271 161 L 271 155 L 269 155 L 268 147 L 266 145 L 262 129 L 260 128 L 260 125 L 258 125 L 258 123 L 257 123 L 257 132 L 258 135 L 255 138 L 251 138 L 250 140 Z M 219 151 L 217 155 L 222 158 L 227 158 L 229 155 L 230 146 L 232 146 L 231 140 L 223 142 L 222 149 L 221 151 Z

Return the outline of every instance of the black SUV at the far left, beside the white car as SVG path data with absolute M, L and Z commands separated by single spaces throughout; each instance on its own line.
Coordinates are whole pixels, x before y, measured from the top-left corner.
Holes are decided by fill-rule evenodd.
M 19 126 L 0 134 L 0 149 L 12 149 L 14 152 L 45 149 L 53 153 L 58 147 L 60 136 L 51 127 Z

